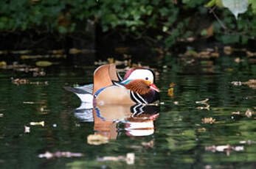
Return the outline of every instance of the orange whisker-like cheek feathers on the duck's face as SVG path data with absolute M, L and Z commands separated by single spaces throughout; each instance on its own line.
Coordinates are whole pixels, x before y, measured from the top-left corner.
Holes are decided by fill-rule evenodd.
M 140 95 L 145 95 L 149 90 L 151 90 L 149 82 L 143 79 L 133 80 L 128 84 L 125 84 L 125 87 L 135 93 L 139 93 Z

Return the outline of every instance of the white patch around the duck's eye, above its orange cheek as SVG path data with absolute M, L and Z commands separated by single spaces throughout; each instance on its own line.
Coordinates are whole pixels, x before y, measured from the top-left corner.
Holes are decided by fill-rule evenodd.
M 147 69 L 138 69 L 131 73 L 130 76 L 128 76 L 129 80 L 134 79 L 146 79 L 153 83 L 153 73 Z

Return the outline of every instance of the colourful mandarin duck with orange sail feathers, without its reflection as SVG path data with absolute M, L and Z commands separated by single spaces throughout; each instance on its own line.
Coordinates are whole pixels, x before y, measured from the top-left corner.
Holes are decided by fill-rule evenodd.
M 151 104 L 159 100 L 159 89 L 150 68 L 132 68 L 122 79 L 116 65 L 101 65 L 94 71 L 94 84 L 64 87 L 75 93 L 82 102 L 94 107 L 104 104 Z

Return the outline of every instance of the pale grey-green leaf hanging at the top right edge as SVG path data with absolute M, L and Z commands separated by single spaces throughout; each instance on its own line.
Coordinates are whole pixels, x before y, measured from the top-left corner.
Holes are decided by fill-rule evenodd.
M 248 7 L 248 0 L 222 0 L 224 7 L 229 8 L 229 10 L 238 19 L 238 14 L 246 12 Z

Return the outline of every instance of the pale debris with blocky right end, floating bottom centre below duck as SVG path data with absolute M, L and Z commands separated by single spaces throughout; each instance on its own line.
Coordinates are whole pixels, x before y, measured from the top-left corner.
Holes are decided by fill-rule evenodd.
M 113 161 L 113 162 L 118 162 L 118 161 L 125 161 L 128 165 L 133 165 L 135 160 L 135 154 L 134 153 L 128 153 L 126 154 L 126 157 L 124 156 L 117 156 L 117 157 L 98 157 L 97 161 L 98 162 L 105 162 L 105 161 Z

